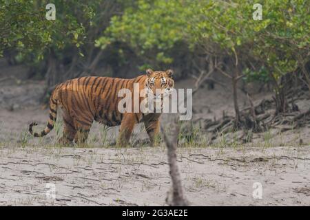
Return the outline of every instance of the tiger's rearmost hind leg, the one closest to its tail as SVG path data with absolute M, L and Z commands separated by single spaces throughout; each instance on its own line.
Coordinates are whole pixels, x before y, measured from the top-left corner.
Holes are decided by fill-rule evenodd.
M 61 145 L 71 145 L 74 136 L 76 135 L 76 129 L 72 117 L 69 113 L 63 110 L 63 136 L 59 139 L 59 144 Z

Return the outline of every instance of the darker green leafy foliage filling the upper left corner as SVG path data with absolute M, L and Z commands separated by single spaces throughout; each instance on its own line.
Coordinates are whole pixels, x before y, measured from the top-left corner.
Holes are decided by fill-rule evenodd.
M 23 58 L 30 55 L 32 61 L 41 61 L 50 50 L 81 47 L 101 2 L 54 1 L 56 20 L 48 21 L 48 2 L 0 0 L 0 54 L 14 49 L 24 54 Z

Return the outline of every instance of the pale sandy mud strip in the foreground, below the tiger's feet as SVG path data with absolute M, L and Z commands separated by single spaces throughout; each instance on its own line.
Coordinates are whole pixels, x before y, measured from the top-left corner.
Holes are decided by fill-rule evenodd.
M 192 205 L 310 205 L 309 146 L 179 148 L 178 159 Z M 1 206 L 162 206 L 171 185 L 163 147 L 3 146 L 0 173 Z

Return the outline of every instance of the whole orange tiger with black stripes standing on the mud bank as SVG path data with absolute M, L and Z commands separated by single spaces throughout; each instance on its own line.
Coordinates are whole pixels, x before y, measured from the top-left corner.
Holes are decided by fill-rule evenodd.
M 65 81 L 55 87 L 50 96 L 50 118 L 48 124 L 41 133 L 34 133 L 33 126 L 29 125 L 29 132 L 34 137 L 43 137 L 50 133 L 56 121 L 57 108 L 60 107 L 63 116 L 63 134 L 59 144 L 70 145 L 85 144 L 94 121 L 106 126 L 118 126 L 119 134 L 116 141 L 118 146 L 127 146 L 130 142 L 135 124 L 143 122 L 149 136 L 151 146 L 154 146 L 154 139 L 158 134 L 161 113 L 143 113 L 142 111 L 132 112 L 118 111 L 118 91 L 129 89 L 133 91 L 134 83 L 138 83 L 139 89 L 146 89 L 156 94 L 160 89 L 164 94 L 174 88 L 173 71 L 153 71 L 147 69 L 146 74 L 132 79 L 85 76 Z M 143 97 L 139 98 L 139 104 Z M 133 104 L 132 104 L 133 106 Z

